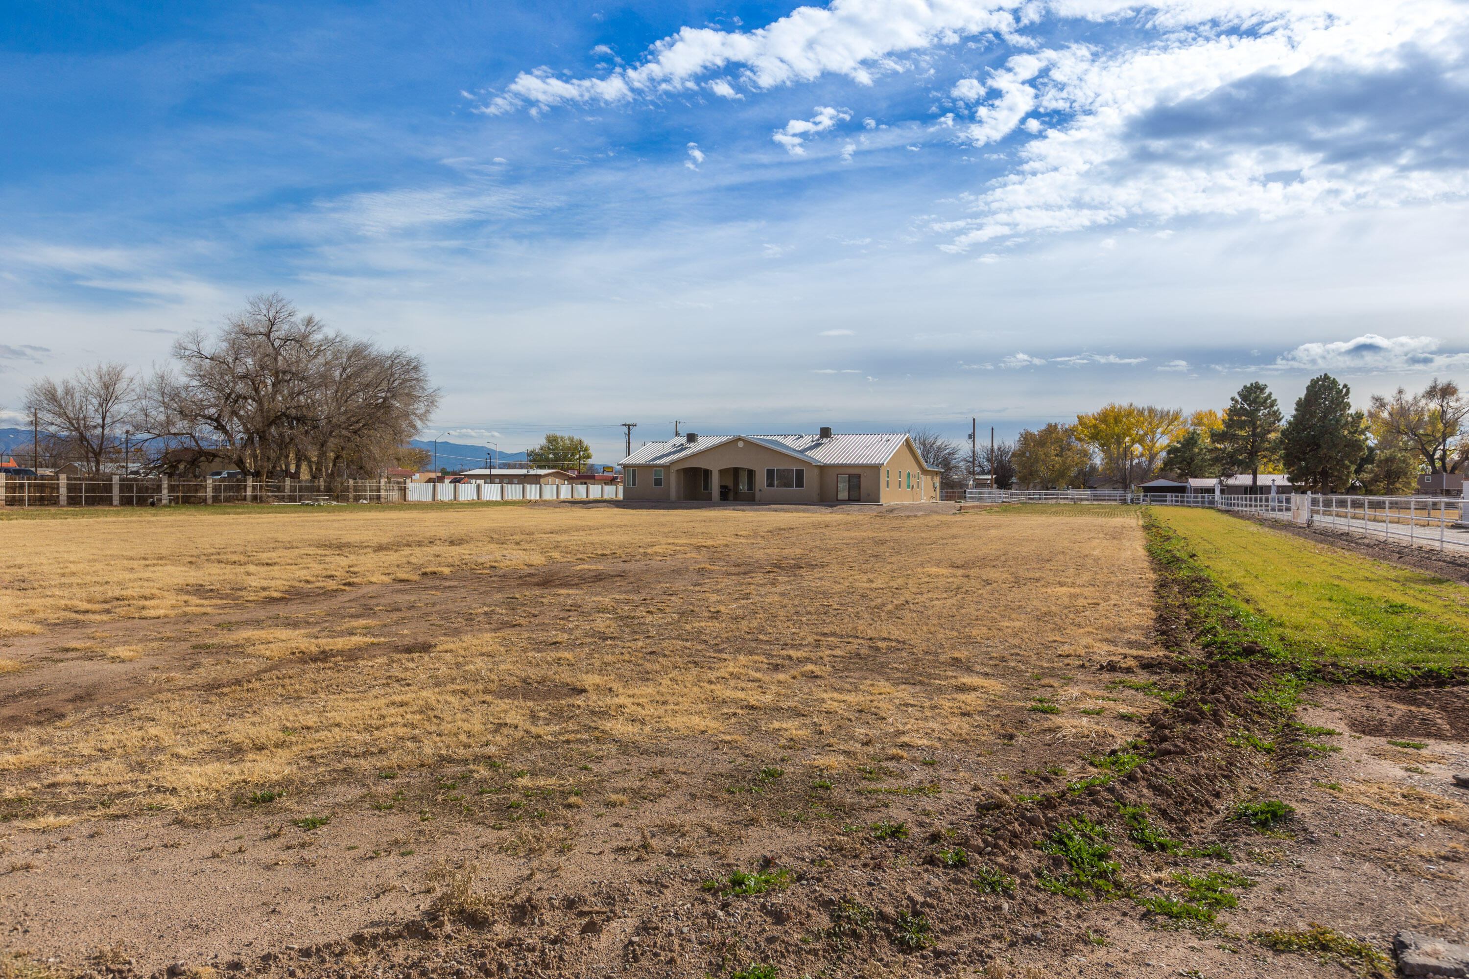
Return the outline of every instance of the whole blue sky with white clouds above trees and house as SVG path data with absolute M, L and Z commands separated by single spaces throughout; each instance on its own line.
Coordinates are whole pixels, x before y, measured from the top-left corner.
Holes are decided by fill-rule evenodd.
M 10 4 L 0 424 L 261 291 L 507 451 L 1365 402 L 1469 364 L 1466 43 L 1448 0 Z

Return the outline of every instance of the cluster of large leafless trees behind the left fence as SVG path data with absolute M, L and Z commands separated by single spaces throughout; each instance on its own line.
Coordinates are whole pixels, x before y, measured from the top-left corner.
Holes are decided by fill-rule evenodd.
M 145 446 L 153 468 L 379 476 L 439 399 L 419 357 L 331 330 L 279 294 L 253 296 L 213 333 L 181 336 L 170 354 L 147 376 L 97 364 L 32 383 L 24 405 L 50 455 L 93 474 L 118 461 L 131 471 L 125 451 Z

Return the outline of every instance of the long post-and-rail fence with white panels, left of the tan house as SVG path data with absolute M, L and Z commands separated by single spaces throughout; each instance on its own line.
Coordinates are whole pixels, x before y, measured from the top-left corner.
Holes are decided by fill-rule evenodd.
M 34 476 L 0 473 L 0 506 L 162 506 L 210 503 L 411 503 L 505 499 L 621 499 L 617 484 L 511 486 L 389 480 L 254 480 L 167 476 Z

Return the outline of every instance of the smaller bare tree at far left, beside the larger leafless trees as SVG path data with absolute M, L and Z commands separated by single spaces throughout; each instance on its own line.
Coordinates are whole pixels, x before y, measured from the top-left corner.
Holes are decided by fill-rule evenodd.
M 137 399 L 138 382 L 123 364 L 82 367 L 60 382 L 43 377 L 25 392 L 26 410 L 37 412 L 43 429 L 71 443 L 93 474 L 115 449 Z

